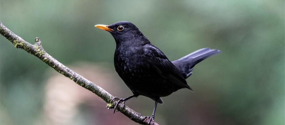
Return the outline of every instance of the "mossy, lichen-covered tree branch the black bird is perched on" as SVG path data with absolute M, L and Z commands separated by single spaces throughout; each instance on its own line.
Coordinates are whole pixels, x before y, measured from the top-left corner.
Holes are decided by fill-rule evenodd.
M 23 49 L 27 51 L 28 53 L 38 57 L 41 59 L 44 63 L 49 65 L 50 67 L 54 68 L 55 71 L 61 73 L 62 75 L 68 77 L 69 79 L 73 80 L 76 84 L 88 89 L 89 91 L 95 93 L 97 96 L 102 98 L 104 101 L 106 101 L 107 108 L 114 108 L 116 101 L 110 102 L 114 96 L 112 96 L 110 93 L 105 91 L 103 88 L 99 87 L 98 85 L 90 82 L 89 80 L 85 79 L 81 75 L 77 74 L 76 72 L 72 71 L 68 67 L 64 66 L 62 63 L 57 61 L 55 58 L 50 56 L 46 51 L 43 49 L 40 38 L 36 37 L 35 44 L 32 45 L 26 41 L 24 41 L 21 37 L 17 36 L 15 33 L 13 33 L 11 30 L 9 30 L 7 27 L 5 27 L 2 22 L 0 21 L 0 33 L 2 36 L 7 38 L 9 41 L 12 42 L 12 44 L 16 48 Z M 135 112 L 128 106 L 125 106 L 122 110 L 122 105 L 117 106 L 116 108 L 121 113 L 125 114 L 129 119 L 140 123 L 147 125 L 149 118 L 146 118 L 142 114 Z M 157 123 L 155 123 L 158 125 Z

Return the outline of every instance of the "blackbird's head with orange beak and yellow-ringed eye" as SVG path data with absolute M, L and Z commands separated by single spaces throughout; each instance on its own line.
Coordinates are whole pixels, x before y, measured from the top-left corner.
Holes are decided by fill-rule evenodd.
M 126 41 L 136 41 L 138 39 L 147 39 L 138 28 L 128 21 L 116 22 L 111 25 L 95 25 L 95 27 L 106 30 L 112 34 L 116 43 Z M 147 40 L 148 41 L 148 40 Z

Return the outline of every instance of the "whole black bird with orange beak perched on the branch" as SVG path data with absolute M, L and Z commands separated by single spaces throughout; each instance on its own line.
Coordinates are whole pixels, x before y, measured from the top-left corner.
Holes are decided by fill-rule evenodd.
M 110 32 L 114 37 L 116 41 L 115 69 L 133 92 L 133 95 L 120 99 L 116 106 L 122 101 L 124 107 L 126 100 L 139 95 L 155 100 L 153 113 L 151 117 L 148 117 L 150 118 L 148 124 L 150 121 L 154 123 L 157 103 L 163 103 L 160 97 L 168 96 L 181 88 L 188 88 L 192 91 L 185 79 L 192 74 L 193 67 L 205 58 L 221 52 L 204 48 L 170 62 L 130 22 L 121 21 L 112 25 L 95 25 L 95 27 Z

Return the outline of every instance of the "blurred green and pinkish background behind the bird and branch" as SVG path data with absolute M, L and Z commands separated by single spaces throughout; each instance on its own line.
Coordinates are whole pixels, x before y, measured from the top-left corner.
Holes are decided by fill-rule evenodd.
M 115 41 L 96 24 L 130 21 L 170 60 L 221 50 L 187 79 L 195 93 L 163 98 L 155 119 L 162 125 L 284 124 L 284 0 L 1 0 L 0 11 L 15 34 L 32 44 L 39 37 L 51 56 L 121 98 L 132 93 L 113 66 Z M 1 125 L 137 124 L 0 38 Z M 154 101 L 126 105 L 151 115 Z

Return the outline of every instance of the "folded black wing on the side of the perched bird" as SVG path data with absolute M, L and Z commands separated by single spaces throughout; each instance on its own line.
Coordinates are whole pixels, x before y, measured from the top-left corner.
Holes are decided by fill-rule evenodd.
M 148 63 L 165 79 L 174 84 L 192 90 L 180 71 L 168 60 L 168 58 L 154 45 L 144 46 L 144 55 Z

